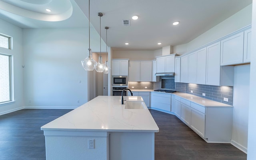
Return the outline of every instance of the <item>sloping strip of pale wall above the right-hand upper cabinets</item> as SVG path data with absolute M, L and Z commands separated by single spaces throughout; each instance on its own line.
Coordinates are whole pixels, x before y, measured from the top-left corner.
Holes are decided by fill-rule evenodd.
M 187 44 L 174 46 L 173 50 L 176 54 L 184 54 L 190 52 L 200 46 L 208 44 L 214 40 L 222 38 L 240 28 L 248 26 L 252 23 L 252 4 L 240 10 L 236 14 L 230 16 L 220 24 L 214 26 L 210 30 L 204 32 L 194 40 Z

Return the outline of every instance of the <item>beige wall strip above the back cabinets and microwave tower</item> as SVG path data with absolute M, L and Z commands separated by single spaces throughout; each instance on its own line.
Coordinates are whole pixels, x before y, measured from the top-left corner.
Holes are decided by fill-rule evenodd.
M 129 59 L 129 60 L 154 60 L 154 51 L 141 51 L 141 50 L 113 50 L 112 59 Z

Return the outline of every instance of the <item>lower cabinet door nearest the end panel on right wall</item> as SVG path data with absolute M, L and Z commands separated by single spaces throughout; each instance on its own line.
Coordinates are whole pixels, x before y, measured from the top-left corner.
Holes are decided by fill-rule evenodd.
M 191 108 L 190 127 L 200 136 L 205 138 L 205 114 Z

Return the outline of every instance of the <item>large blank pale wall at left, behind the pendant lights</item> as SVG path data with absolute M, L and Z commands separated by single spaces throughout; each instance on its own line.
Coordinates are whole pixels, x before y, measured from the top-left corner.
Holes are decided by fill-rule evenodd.
M 92 51 L 99 51 L 97 35 L 92 30 Z M 90 84 L 81 60 L 89 48 L 88 29 L 24 29 L 23 37 L 24 105 L 54 108 L 86 103 Z

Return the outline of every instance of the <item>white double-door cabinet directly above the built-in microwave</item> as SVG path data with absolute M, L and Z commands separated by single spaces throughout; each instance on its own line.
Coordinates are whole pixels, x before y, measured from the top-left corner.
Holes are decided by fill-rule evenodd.
M 111 75 L 128 76 L 128 59 L 112 59 Z

